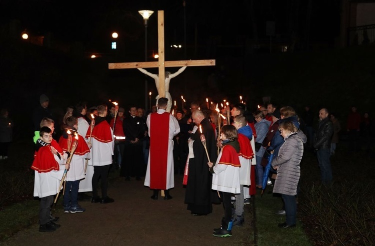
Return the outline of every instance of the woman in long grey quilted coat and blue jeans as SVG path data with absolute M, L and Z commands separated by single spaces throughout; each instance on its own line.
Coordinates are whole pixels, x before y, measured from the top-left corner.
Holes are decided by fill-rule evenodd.
M 278 227 L 295 227 L 297 204 L 297 185 L 300 176 L 299 163 L 303 155 L 303 144 L 307 138 L 298 130 L 292 121 L 281 122 L 278 127 L 284 143 L 281 145 L 278 156 L 272 160 L 273 169 L 277 169 L 277 177 L 273 193 L 281 194 L 285 205 L 286 222 Z

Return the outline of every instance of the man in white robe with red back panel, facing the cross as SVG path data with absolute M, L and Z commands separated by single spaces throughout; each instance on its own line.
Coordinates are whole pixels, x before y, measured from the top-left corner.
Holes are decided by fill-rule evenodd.
M 169 189 L 174 187 L 173 137 L 180 129 L 177 119 L 165 111 L 167 103 L 167 98 L 159 98 L 157 112 L 149 114 L 146 121 L 150 147 L 144 186 L 153 190 L 153 200 L 157 200 L 158 190 L 164 190 L 165 200 L 171 199 Z

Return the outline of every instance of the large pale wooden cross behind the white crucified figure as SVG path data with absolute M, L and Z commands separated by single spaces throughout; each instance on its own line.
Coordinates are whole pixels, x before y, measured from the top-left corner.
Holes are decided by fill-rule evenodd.
M 180 61 L 164 61 L 164 11 L 157 11 L 157 38 L 158 38 L 158 61 L 149 62 L 119 62 L 108 63 L 109 69 L 123 68 L 159 68 L 159 97 L 165 97 L 165 67 L 181 67 L 181 66 L 214 66 L 215 60 L 180 60 Z

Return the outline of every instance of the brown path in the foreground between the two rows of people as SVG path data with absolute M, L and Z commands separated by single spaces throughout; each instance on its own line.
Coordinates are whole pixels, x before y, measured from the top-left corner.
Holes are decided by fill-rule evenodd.
M 245 206 L 245 226 L 232 230 L 231 238 L 215 238 L 212 229 L 220 225 L 222 205 L 213 205 L 213 213 L 192 216 L 183 203 L 185 189 L 182 176 L 175 176 L 173 199 L 150 199 L 151 191 L 142 181 L 116 178 L 110 182 L 108 195 L 111 204 L 80 202 L 84 213 L 64 214 L 57 205 L 55 215 L 60 217 L 61 228 L 53 233 L 39 233 L 33 225 L 15 234 L 2 245 L 55 245 L 55 246 L 231 246 L 251 245 L 249 207 Z M 59 202 L 61 203 L 61 198 Z M 1 244 L 1 243 L 0 243 Z

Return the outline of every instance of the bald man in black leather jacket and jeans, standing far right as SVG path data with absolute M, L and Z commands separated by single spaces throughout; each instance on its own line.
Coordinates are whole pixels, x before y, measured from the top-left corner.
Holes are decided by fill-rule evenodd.
M 317 150 L 317 161 L 320 167 L 321 181 L 329 184 L 332 181 L 332 169 L 330 166 L 330 141 L 333 135 L 333 124 L 329 120 L 329 112 L 326 108 L 319 111 L 319 127 L 316 132 L 314 148 Z

